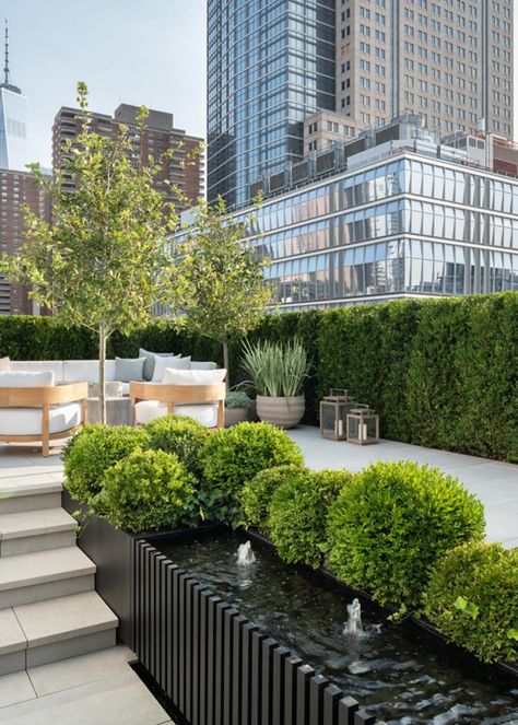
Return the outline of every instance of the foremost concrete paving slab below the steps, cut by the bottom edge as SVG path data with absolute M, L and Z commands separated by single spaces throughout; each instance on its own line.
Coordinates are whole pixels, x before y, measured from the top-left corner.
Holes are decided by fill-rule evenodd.
M 0 709 L 4 725 L 163 725 L 169 717 L 128 667 L 61 692 Z

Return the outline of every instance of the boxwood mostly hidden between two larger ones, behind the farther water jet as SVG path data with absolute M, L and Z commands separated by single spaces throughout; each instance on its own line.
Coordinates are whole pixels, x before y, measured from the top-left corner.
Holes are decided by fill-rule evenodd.
M 299 466 L 275 466 L 256 473 L 245 483 L 242 494 L 243 512 L 247 526 L 257 526 L 262 531 L 268 529 L 268 516 L 273 493 L 287 480 L 306 475 Z

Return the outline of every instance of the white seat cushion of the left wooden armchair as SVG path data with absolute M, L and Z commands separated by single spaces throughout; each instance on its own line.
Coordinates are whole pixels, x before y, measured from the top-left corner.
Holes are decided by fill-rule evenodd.
M 0 435 L 38 435 L 42 433 L 40 408 L 0 408 Z M 81 404 L 50 407 L 50 433 L 60 433 L 81 423 Z

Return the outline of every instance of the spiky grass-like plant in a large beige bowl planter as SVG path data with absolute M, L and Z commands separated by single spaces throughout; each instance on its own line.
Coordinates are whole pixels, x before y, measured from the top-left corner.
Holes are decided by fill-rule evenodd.
M 260 420 L 293 428 L 305 411 L 304 381 L 309 362 L 299 340 L 245 343 L 243 367 L 251 376 L 257 393 L 257 414 Z

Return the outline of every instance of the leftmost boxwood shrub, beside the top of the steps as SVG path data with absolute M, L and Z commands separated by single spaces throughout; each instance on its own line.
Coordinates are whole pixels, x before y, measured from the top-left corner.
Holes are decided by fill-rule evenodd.
M 85 425 L 64 451 L 64 486 L 74 499 L 89 504 L 101 491 L 108 468 L 145 445 L 143 429 Z

